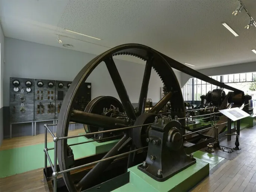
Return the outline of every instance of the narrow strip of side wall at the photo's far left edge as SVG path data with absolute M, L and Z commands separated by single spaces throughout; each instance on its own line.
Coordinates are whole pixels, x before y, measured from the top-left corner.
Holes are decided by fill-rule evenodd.
M 0 60 L 0 145 L 3 140 L 3 79 L 4 79 L 4 34 L 0 25 L 0 43 L 1 43 L 1 60 Z

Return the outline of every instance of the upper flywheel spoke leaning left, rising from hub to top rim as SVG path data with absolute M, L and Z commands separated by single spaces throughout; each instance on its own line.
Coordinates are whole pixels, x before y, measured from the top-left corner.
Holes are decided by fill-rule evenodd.
M 115 62 L 112 56 L 106 59 L 104 62 L 107 65 L 108 72 L 110 73 L 115 89 L 117 90 L 118 96 L 120 97 L 120 100 L 124 106 L 124 110 L 126 111 L 127 116 L 135 120 L 136 115 L 134 108 L 132 106 L 132 103 L 130 102 L 129 96 L 126 92 L 123 81 L 120 77 L 117 67 L 115 66 Z

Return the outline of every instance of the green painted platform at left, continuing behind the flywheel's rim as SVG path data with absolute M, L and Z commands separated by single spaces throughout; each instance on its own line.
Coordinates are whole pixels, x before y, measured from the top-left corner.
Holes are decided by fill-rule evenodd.
M 68 139 L 68 144 L 85 142 L 87 140 L 88 139 L 85 137 L 72 138 Z M 74 145 L 71 146 L 71 148 L 73 149 L 74 158 L 78 159 L 101 152 L 107 152 L 117 142 L 118 140 L 104 143 L 91 142 Z M 48 148 L 52 148 L 53 146 L 53 142 L 47 143 Z M 43 149 L 44 143 L 41 143 L 0 151 L 0 178 L 44 167 Z M 49 151 L 49 155 L 53 162 L 53 150 Z M 48 165 L 50 164 L 48 163 Z

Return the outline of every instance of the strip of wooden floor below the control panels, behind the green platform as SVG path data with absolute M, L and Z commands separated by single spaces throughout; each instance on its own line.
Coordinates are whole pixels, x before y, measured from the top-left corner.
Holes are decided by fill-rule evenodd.
M 68 135 L 77 135 L 79 133 L 85 133 L 84 129 L 69 130 Z M 47 134 L 47 142 L 53 142 L 50 133 Z M 24 136 L 24 137 L 13 137 L 12 139 L 4 139 L 1 146 L 1 150 L 7 150 L 12 148 L 24 147 L 28 145 L 36 145 L 44 143 L 44 134 L 38 134 L 36 136 Z

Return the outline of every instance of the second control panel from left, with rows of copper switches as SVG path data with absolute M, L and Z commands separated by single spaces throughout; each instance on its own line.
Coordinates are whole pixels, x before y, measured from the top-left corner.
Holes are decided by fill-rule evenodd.
M 34 120 L 55 119 L 55 80 L 34 80 Z

